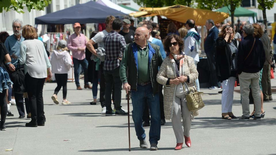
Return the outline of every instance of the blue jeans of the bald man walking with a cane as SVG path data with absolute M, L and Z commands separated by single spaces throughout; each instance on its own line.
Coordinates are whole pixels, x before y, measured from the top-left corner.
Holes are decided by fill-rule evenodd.
M 131 90 L 132 100 L 132 119 L 136 131 L 136 136 L 139 140 L 146 138 L 145 130 L 143 128 L 143 112 L 145 107 L 144 100 L 147 99 L 148 106 L 151 111 L 151 127 L 149 131 L 150 143 L 157 144 L 160 139 L 161 119 L 160 119 L 160 104 L 159 93 L 152 94 L 152 86 L 149 85 L 137 85 L 137 91 Z

